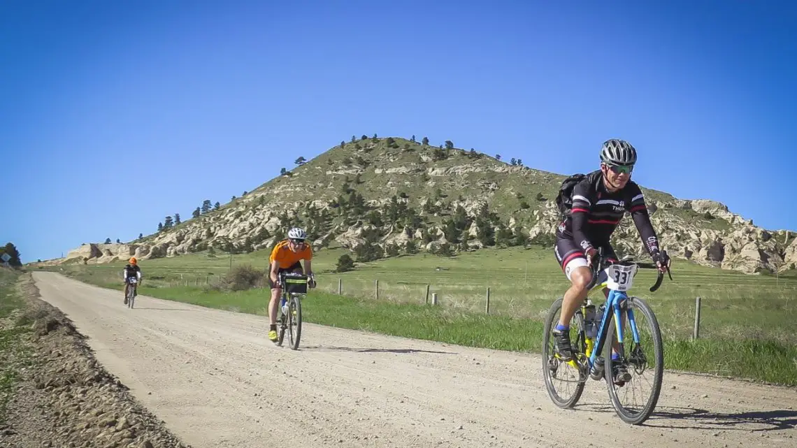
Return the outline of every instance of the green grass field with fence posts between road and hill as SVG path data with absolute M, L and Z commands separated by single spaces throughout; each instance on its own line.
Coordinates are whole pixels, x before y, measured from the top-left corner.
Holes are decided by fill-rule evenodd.
M 305 301 L 304 319 L 396 336 L 442 340 L 505 350 L 539 352 L 543 317 L 567 289 L 550 250 L 479 250 L 457 257 L 429 254 L 358 264 L 334 273 L 344 250 L 316 254 L 319 288 Z M 264 269 L 268 253 L 234 255 L 232 265 Z M 120 289 L 121 267 L 73 265 L 48 268 L 81 281 Z M 65 269 L 60 271 L 60 269 Z M 207 288 L 230 269 L 229 255 L 142 261 L 141 293 L 213 308 L 264 314 L 268 291 L 222 293 Z M 337 295 L 342 282 L 343 296 Z M 379 281 L 379 300 L 375 299 Z M 665 337 L 665 367 L 797 384 L 794 300 L 797 278 L 746 275 L 673 263 L 673 281 L 650 293 L 655 273 L 642 269 L 636 295 L 654 308 Z M 425 305 L 426 287 L 438 304 Z M 485 313 L 490 289 L 489 314 Z M 701 297 L 700 339 L 691 341 L 695 297 Z

